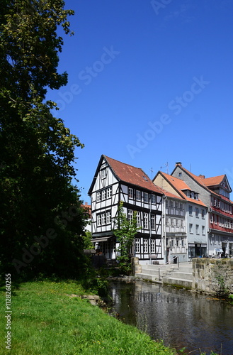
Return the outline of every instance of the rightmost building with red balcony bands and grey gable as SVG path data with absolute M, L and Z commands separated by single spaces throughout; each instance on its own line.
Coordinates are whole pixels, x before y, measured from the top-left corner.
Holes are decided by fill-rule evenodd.
M 198 192 L 200 199 L 208 206 L 208 254 L 209 256 L 233 255 L 233 202 L 232 192 L 226 175 L 205 178 L 194 175 L 181 163 L 176 163 L 172 176 L 186 182 Z

